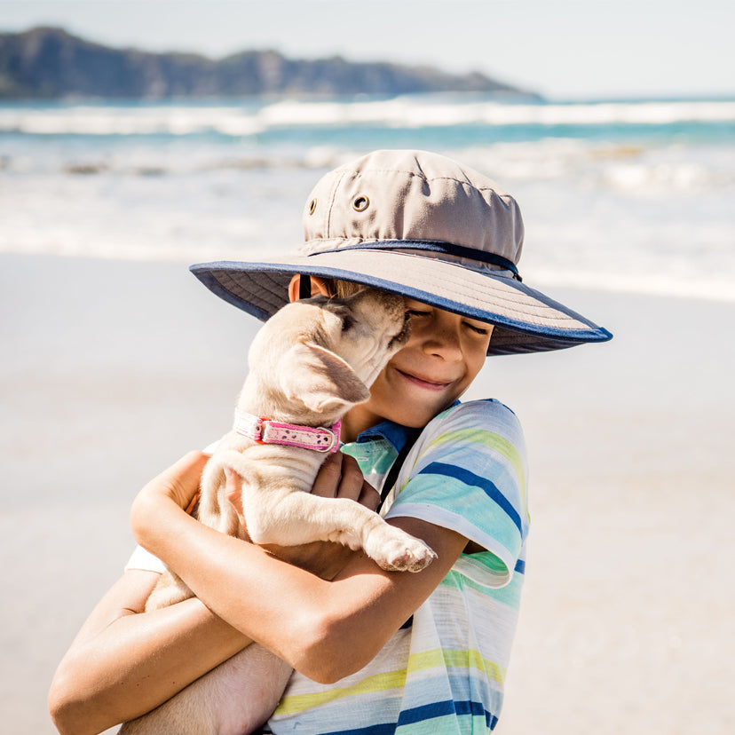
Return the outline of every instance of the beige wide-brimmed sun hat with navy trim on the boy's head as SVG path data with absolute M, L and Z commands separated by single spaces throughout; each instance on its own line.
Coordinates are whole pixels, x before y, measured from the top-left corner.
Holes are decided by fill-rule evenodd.
M 320 179 L 289 256 L 192 265 L 210 290 L 265 320 L 294 274 L 354 281 L 494 324 L 488 355 L 542 352 L 612 335 L 527 286 L 518 204 L 489 178 L 426 151 L 383 150 Z

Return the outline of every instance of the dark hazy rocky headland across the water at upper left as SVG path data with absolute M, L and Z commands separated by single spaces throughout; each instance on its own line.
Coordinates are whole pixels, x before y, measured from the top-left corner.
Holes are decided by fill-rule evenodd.
M 525 95 L 478 73 L 431 67 L 287 59 L 242 51 L 224 59 L 194 53 L 115 49 L 62 28 L 0 33 L 0 99 L 241 97 L 249 95 L 396 95 L 475 91 Z

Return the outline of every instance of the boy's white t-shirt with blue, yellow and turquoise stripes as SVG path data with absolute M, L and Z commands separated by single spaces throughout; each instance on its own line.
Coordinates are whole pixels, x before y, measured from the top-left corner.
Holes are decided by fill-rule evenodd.
M 343 448 L 374 486 L 401 430 L 393 424 Z M 462 554 L 410 625 L 356 674 L 317 684 L 295 672 L 268 723 L 275 735 L 494 728 L 526 564 L 526 475 L 520 425 L 496 400 L 456 404 L 426 426 L 383 514 L 451 528 L 485 550 Z

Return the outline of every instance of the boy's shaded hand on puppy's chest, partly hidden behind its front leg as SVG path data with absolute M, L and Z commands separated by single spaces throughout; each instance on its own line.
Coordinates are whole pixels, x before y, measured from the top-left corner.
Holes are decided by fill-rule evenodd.
M 362 477 L 360 467 L 355 459 L 347 454 L 335 452 L 330 454 L 322 464 L 314 481 L 312 494 L 322 498 L 347 498 L 359 502 L 370 510 L 376 510 L 380 503 L 380 494 L 368 485 Z M 235 472 L 227 472 L 227 496 L 242 518 L 241 482 Z M 317 574 L 322 579 L 330 580 L 340 572 L 353 554 L 340 543 L 332 541 L 313 541 L 301 546 L 278 546 L 266 544 L 263 547 L 274 556 L 300 566 Z

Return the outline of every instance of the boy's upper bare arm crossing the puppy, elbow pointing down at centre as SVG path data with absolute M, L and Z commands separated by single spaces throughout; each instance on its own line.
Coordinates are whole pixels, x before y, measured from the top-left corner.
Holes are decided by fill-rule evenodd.
M 333 581 L 324 581 L 187 516 L 182 466 L 164 472 L 138 495 L 131 513 L 138 541 L 214 613 L 316 681 L 336 681 L 372 660 L 467 543 L 446 528 L 397 518 L 392 523 L 439 554 L 429 567 L 420 573 L 384 572 L 357 554 Z

